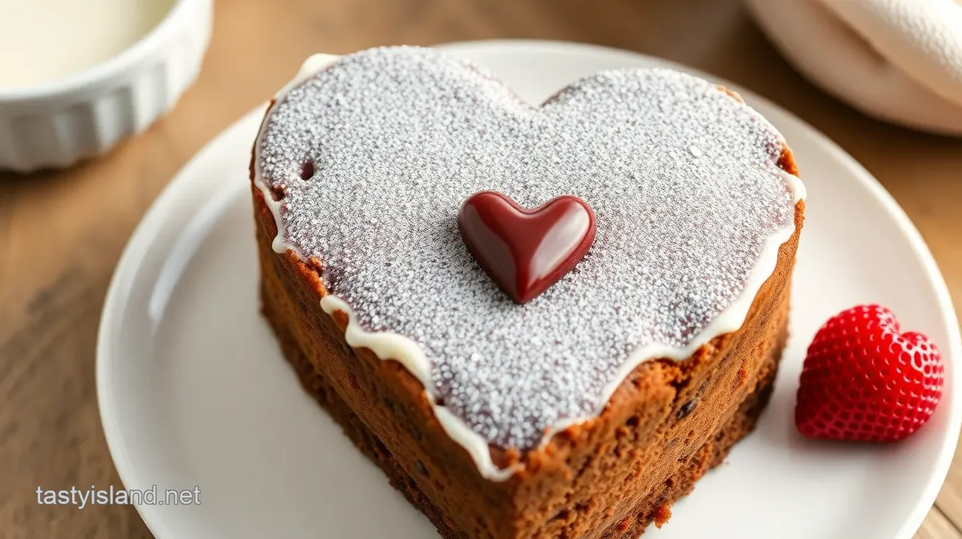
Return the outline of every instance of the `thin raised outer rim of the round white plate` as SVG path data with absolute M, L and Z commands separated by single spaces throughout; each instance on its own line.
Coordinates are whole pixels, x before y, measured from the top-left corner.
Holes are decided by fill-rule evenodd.
M 802 130 L 807 131 L 808 134 L 812 136 L 812 140 L 821 146 L 826 154 L 851 171 L 851 175 L 855 180 L 873 196 L 882 209 L 893 218 L 901 232 L 905 235 L 916 258 L 921 262 L 924 276 L 935 293 L 940 318 L 946 323 L 948 329 L 949 340 L 942 347 L 946 352 L 944 355 L 949 358 L 949 362 L 947 362 L 949 371 L 947 380 L 949 381 L 950 391 L 952 392 L 949 400 L 951 406 L 947 419 L 946 438 L 943 440 L 942 447 L 939 449 L 939 456 L 933 468 L 934 472 L 929 475 L 925 483 L 923 495 L 916 501 L 915 506 L 909 512 L 909 517 L 894 537 L 894 539 L 910 539 L 922 525 L 933 502 L 938 496 L 946 476 L 949 474 L 949 466 L 951 465 L 958 443 L 960 426 L 962 426 L 962 398 L 959 398 L 959 396 L 956 396 L 954 393 L 962 387 L 962 368 L 960 368 L 962 366 L 955 365 L 955 362 L 962 359 L 962 336 L 960 336 L 958 318 L 952 305 L 951 296 L 949 295 L 949 287 L 928 245 L 925 244 L 922 234 L 905 211 L 899 206 L 899 203 L 892 194 L 874 178 L 872 173 L 849 155 L 837 142 L 832 141 L 824 135 L 822 131 L 771 99 L 714 73 L 696 69 L 689 65 L 626 49 L 594 43 L 551 39 L 478 39 L 444 42 L 430 46 L 461 53 L 469 53 L 472 50 L 476 51 L 478 49 L 512 49 L 521 47 L 527 50 L 544 50 L 552 53 L 557 53 L 560 50 L 562 52 L 593 53 L 608 57 L 615 55 L 635 61 L 644 59 L 646 62 L 654 62 L 687 71 L 698 77 L 711 80 L 731 90 L 735 90 L 747 97 L 747 100 L 750 102 L 763 103 L 766 107 L 777 111 L 779 114 L 792 118 Z M 127 485 L 128 479 L 135 475 L 134 469 L 136 467 L 130 459 L 130 454 L 123 447 L 122 428 L 113 415 L 115 410 L 114 395 L 107 389 L 110 387 L 108 366 L 115 361 L 114 356 L 109 352 L 110 347 L 107 346 L 107 343 L 110 342 L 112 336 L 118 334 L 118 330 L 121 327 L 118 322 L 122 321 L 122 317 L 118 317 L 116 313 L 121 311 L 121 307 L 127 303 L 133 286 L 133 278 L 139 270 L 139 262 L 143 255 L 150 250 L 149 247 L 152 246 L 152 241 L 156 233 L 163 228 L 167 214 L 165 209 L 176 205 L 178 203 L 178 193 L 184 190 L 184 186 L 189 185 L 190 174 L 188 172 L 196 167 L 199 162 L 203 161 L 207 154 L 211 153 L 213 147 L 219 143 L 223 135 L 235 130 L 247 121 L 252 121 L 250 119 L 251 116 L 263 115 L 266 111 L 266 106 L 266 102 L 262 103 L 224 127 L 177 170 L 172 179 L 157 194 L 150 206 L 143 213 L 143 216 L 131 233 L 127 244 L 125 244 L 114 266 L 110 286 L 108 287 L 100 313 L 94 375 L 100 424 L 104 431 L 104 438 L 107 442 L 108 450 L 114 462 L 114 468 L 121 483 L 124 485 Z M 173 537 L 169 528 L 164 524 L 164 519 L 159 515 L 158 511 L 152 508 L 153 506 L 141 504 L 134 505 L 134 507 L 137 509 L 144 525 L 147 526 L 151 533 L 158 537 L 158 539 Z

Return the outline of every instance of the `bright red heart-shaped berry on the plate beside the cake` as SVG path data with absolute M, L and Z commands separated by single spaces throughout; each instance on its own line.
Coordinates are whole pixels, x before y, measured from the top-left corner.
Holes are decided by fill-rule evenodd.
M 942 358 L 928 338 L 899 333 L 885 307 L 853 307 L 808 347 L 795 424 L 812 438 L 895 442 L 928 421 L 942 385 Z

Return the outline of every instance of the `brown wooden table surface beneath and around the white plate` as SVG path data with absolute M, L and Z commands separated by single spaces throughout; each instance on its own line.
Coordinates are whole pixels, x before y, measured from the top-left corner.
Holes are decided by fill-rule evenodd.
M 738 0 L 217 0 L 195 87 L 136 140 L 67 171 L 0 173 L 0 538 L 142 538 L 127 505 L 38 505 L 38 486 L 115 485 L 93 366 L 121 249 L 171 176 L 314 52 L 532 38 L 689 64 L 769 97 L 840 143 L 915 221 L 962 304 L 962 140 L 860 116 L 805 82 Z M 919 538 L 962 539 L 962 459 Z M 882 539 L 882 538 L 878 538 Z

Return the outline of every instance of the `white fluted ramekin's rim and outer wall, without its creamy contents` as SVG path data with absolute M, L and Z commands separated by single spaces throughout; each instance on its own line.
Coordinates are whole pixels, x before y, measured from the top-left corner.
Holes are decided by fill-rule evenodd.
M 214 0 L 178 0 L 114 58 L 37 87 L 0 89 L 0 169 L 69 167 L 150 126 L 197 78 L 213 9 Z

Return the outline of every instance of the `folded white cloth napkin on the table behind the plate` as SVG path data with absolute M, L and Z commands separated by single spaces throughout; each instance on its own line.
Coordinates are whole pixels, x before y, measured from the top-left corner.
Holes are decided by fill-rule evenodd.
M 883 121 L 962 136 L 962 0 L 746 0 L 798 71 Z

